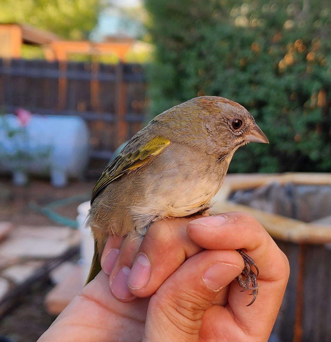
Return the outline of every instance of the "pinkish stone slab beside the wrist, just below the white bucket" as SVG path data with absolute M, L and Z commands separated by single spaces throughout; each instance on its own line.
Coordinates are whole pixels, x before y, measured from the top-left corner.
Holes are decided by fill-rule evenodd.
M 46 310 L 51 315 L 60 314 L 83 288 L 82 267 L 76 265 L 72 272 L 57 284 L 45 298 Z

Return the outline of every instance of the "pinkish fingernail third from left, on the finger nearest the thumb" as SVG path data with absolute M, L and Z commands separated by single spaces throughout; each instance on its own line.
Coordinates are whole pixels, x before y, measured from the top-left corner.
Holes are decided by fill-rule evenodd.
M 131 289 L 141 289 L 146 286 L 150 276 L 150 263 L 144 253 L 138 255 L 135 260 L 130 275 L 128 277 L 128 285 Z

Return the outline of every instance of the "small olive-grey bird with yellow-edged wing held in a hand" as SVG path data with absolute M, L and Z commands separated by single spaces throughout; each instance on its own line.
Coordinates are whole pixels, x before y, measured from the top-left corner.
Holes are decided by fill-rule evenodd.
M 95 253 L 87 283 L 101 270 L 100 257 L 110 234 L 144 236 L 157 220 L 207 210 L 234 152 L 248 142 L 268 139 L 243 106 L 219 96 L 200 96 L 174 106 L 136 133 L 93 189 L 88 223 Z M 252 304 L 258 268 L 243 250 L 238 252 L 245 268 L 237 281 L 253 291 Z

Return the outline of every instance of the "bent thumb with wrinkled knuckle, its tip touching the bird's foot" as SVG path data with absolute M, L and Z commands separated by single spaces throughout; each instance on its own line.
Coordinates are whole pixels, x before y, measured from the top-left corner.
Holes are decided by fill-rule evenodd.
M 198 341 L 202 316 L 244 267 L 236 251 L 202 251 L 182 264 L 152 295 L 143 342 Z

